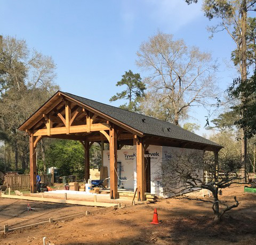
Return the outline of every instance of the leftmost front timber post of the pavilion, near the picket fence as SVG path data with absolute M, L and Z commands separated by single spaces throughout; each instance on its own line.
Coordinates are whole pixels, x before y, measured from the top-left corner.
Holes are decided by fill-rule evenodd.
M 30 161 L 30 193 L 36 193 L 36 148 L 34 147 L 35 137 L 29 135 L 29 161 Z

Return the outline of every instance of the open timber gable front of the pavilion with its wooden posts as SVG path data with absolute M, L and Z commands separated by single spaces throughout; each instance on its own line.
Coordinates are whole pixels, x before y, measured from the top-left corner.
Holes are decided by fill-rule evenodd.
M 94 142 L 98 142 L 104 149 L 104 143 L 109 143 L 110 151 L 110 198 L 118 198 L 117 193 L 117 149 L 124 145 L 137 145 L 142 133 L 131 130 L 129 127 L 116 123 L 96 112 L 92 108 L 77 103 L 74 99 L 61 94 L 55 94 L 49 103 L 32 115 L 20 130 L 26 130 L 29 134 L 30 147 L 30 191 L 35 193 L 36 187 L 36 157 L 35 149 L 42 138 L 58 138 L 79 140 L 84 147 L 84 174 L 86 181 L 90 178 L 89 150 Z M 141 144 L 140 144 L 141 145 Z M 137 159 L 141 168 L 143 157 Z M 143 155 L 144 156 L 144 155 Z M 143 172 L 142 170 L 140 171 Z M 137 174 L 138 183 L 143 182 L 143 176 Z M 145 200 L 143 185 L 138 186 L 139 200 Z

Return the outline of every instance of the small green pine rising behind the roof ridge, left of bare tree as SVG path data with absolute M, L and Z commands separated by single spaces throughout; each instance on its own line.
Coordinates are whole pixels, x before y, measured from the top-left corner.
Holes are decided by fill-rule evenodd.
M 116 83 L 116 86 L 126 85 L 127 88 L 122 92 L 117 92 L 116 95 L 112 96 L 109 101 L 113 102 L 117 99 L 127 99 L 129 104 L 125 103 L 124 105 L 119 106 L 122 109 L 128 111 L 137 112 L 138 111 L 138 102 L 145 96 L 144 91 L 146 89 L 145 83 L 141 81 L 139 73 L 133 73 L 131 70 L 126 71 L 122 75 L 121 81 Z

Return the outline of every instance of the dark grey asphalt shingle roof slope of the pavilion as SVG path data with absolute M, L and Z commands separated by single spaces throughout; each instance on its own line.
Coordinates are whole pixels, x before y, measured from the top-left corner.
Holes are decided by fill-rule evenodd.
M 201 143 L 205 145 L 211 145 L 221 147 L 217 143 L 198 136 L 188 130 L 180 128 L 173 123 L 165 122 L 162 120 L 155 119 L 153 117 L 141 115 L 138 113 L 126 111 L 115 106 L 106 105 L 100 102 L 96 102 L 91 99 L 86 99 L 80 96 L 69 94 L 68 92 L 62 92 L 67 96 L 78 100 L 79 102 L 91 106 L 98 111 L 113 117 L 114 119 L 122 122 L 126 125 L 131 126 L 133 129 L 139 130 L 144 134 L 150 134 L 152 136 L 167 137 L 177 140 L 185 140 L 190 142 Z M 144 122 L 143 122 L 144 121 Z

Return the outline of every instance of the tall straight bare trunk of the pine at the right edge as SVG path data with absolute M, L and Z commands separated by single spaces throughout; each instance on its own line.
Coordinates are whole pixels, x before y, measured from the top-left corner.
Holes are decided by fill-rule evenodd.
M 242 73 L 241 79 L 242 83 L 246 82 L 247 80 L 247 46 L 246 46 L 246 24 L 247 24 L 247 1 L 243 0 L 241 6 L 241 21 L 242 21 L 242 46 L 241 46 L 241 60 L 242 60 Z M 244 103 L 245 98 L 242 98 L 242 103 Z M 242 141 L 242 160 L 244 164 L 244 180 L 247 182 L 247 169 L 246 169 L 246 162 L 247 162 L 247 139 L 245 130 L 243 130 L 243 141 Z

